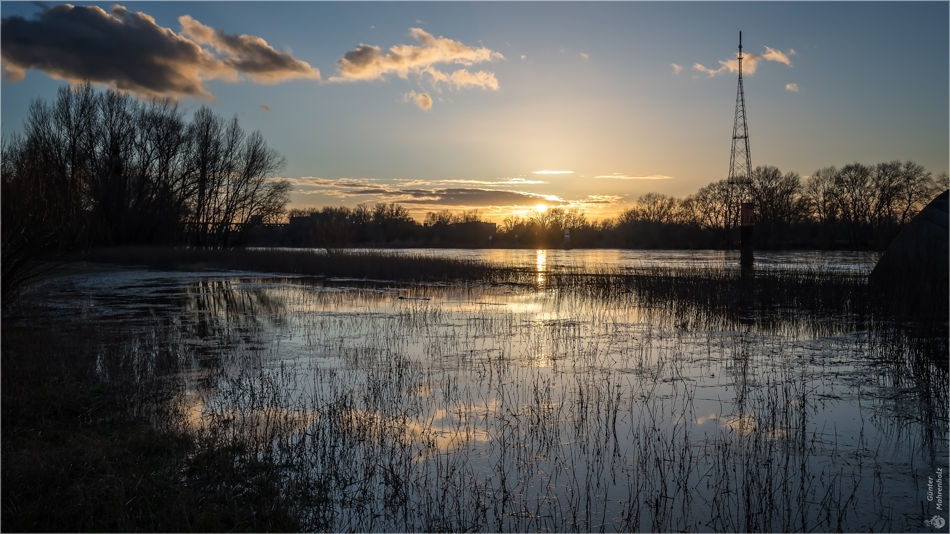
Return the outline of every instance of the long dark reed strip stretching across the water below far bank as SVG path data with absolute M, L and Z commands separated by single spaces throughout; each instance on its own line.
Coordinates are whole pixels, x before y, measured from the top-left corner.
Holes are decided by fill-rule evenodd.
M 721 326 L 736 321 L 763 326 L 808 320 L 819 330 L 838 328 L 842 321 L 849 328 L 896 329 L 913 340 L 914 350 L 922 359 L 940 362 L 948 357 L 950 292 L 947 280 L 942 278 L 936 282 L 922 280 L 926 290 L 904 280 L 902 286 L 882 292 L 868 283 L 863 271 L 828 266 L 743 269 L 722 264 L 639 265 L 545 270 L 390 251 L 196 247 L 113 247 L 77 258 L 176 271 L 238 270 L 384 282 L 507 284 L 583 293 L 604 302 L 633 296 L 637 306 L 674 310 L 686 324 L 690 320 L 712 320 Z

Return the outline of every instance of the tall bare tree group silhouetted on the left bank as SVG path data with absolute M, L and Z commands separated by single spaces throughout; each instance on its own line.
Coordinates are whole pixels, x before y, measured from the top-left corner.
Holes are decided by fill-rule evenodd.
M 227 246 L 252 220 L 285 215 L 284 159 L 259 131 L 202 106 L 138 102 L 89 83 L 30 103 L 3 140 L 5 287 L 38 255 L 85 246 Z M 8 277 L 10 275 L 10 277 Z

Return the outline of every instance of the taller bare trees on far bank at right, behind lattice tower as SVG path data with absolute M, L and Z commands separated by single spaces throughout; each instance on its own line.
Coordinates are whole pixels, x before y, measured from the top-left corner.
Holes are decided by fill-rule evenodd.
M 613 245 L 731 248 L 746 198 L 755 205 L 756 248 L 883 250 L 947 181 L 910 161 L 830 166 L 804 181 L 762 165 L 748 186 L 714 181 L 680 199 L 647 193 L 599 229 Z

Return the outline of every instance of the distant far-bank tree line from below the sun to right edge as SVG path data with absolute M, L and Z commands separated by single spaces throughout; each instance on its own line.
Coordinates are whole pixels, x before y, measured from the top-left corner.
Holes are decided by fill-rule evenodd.
M 483 221 L 478 210 L 428 212 L 420 224 L 398 204 L 359 204 L 291 210 L 302 231 L 269 239 L 298 246 L 476 246 L 488 244 L 490 233 L 493 246 L 731 248 L 738 241 L 740 200 L 748 198 L 755 204 L 756 248 L 883 250 L 946 188 L 945 173 L 935 178 L 909 161 L 831 166 L 804 181 L 796 172 L 763 165 L 748 186 L 713 181 L 679 199 L 647 193 L 610 219 L 551 207 L 507 217 L 489 232 L 472 225 Z

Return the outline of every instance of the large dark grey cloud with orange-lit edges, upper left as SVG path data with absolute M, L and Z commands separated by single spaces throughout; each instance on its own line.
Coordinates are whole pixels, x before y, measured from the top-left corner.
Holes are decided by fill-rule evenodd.
M 181 33 L 142 12 L 113 6 L 55 6 L 27 20 L 0 22 L 0 57 L 11 82 L 30 68 L 79 82 L 90 80 L 142 96 L 213 98 L 208 80 L 276 84 L 319 79 L 318 69 L 252 35 L 227 35 L 188 15 Z M 205 46 L 212 48 L 204 48 Z M 217 53 L 216 53 L 217 52 Z

